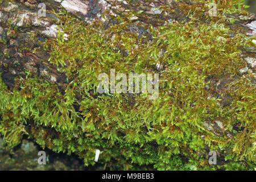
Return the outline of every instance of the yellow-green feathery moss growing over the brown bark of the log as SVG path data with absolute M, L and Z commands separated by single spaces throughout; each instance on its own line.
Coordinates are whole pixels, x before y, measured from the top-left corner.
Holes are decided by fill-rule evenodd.
M 221 11 L 244 14 L 239 1 L 229 2 L 220 3 Z M 68 41 L 60 33 L 45 46 L 51 49 L 49 62 L 67 75 L 65 92 L 30 75 L 16 80 L 12 92 L 0 82 L 0 131 L 10 147 L 28 134 L 43 147 L 79 155 L 86 166 L 95 164 L 98 148 L 103 151 L 99 163 L 109 169 L 255 168 L 253 74 L 239 73 L 246 65 L 241 48 L 250 38 L 238 25 L 231 29 L 225 17 L 199 22 L 191 14 L 188 22 L 139 24 L 150 31 L 145 41 L 149 38 L 131 31 L 125 18 L 117 17 L 109 28 L 68 14 L 60 18 Z M 159 73 L 158 99 L 98 94 L 97 76 L 112 68 Z M 225 96 L 231 101 L 223 105 Z M 209 130 L 207 123 L 220 127 Z M 213 150 L 217 166 L 208 163 Z

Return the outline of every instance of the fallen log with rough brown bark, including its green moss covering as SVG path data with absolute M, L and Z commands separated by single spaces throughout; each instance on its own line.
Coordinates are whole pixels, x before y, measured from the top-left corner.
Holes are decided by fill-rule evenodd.
M 0 134 L 102 169 L 254 170 L 256 17 L 240 0 L 0 0 Z M 46 5 L 40 16 L 39 3 Z M 159 97 L 97 76 L 159 73 Z M 217 165 L 208 163 L 217 152 Z

